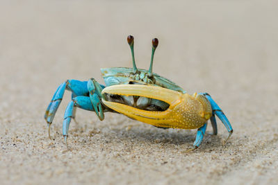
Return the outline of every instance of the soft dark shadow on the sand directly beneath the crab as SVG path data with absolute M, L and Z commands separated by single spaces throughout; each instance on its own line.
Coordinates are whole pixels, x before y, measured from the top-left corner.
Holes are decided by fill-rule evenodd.
M 184 146 L 185 149 L 193 147 L 197 134 L 197 130 L 161 129 L 149 125 L 134 126 L 130 130 L 113 128 L 113 132 L 113 135 L 117 136 L 117 141 L 124 143 L 147 143 L 148 145 L 163 145 L 165 147 Z M 113 136 L 111 136 L 112 138 Z M 222 146 L 220 136 L 207 132 L 200 148 L 213 150 L 213 148 L 220 146 Z

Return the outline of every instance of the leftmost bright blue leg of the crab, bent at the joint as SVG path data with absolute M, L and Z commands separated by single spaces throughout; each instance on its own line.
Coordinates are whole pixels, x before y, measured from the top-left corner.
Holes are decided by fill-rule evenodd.
M 49 138 L 50 125 L 54 119 L 60 102 L 63 99 L 65 89 L 72 91 L 72 96 L 85 96 L 86 94 L 88 94 L 87 82 L 81 82 L 79 80 L 67 80 L 58 87 L 44 114 L 44 119 L 45 121 L 47 121 L 47 125 L 49 127 Z

